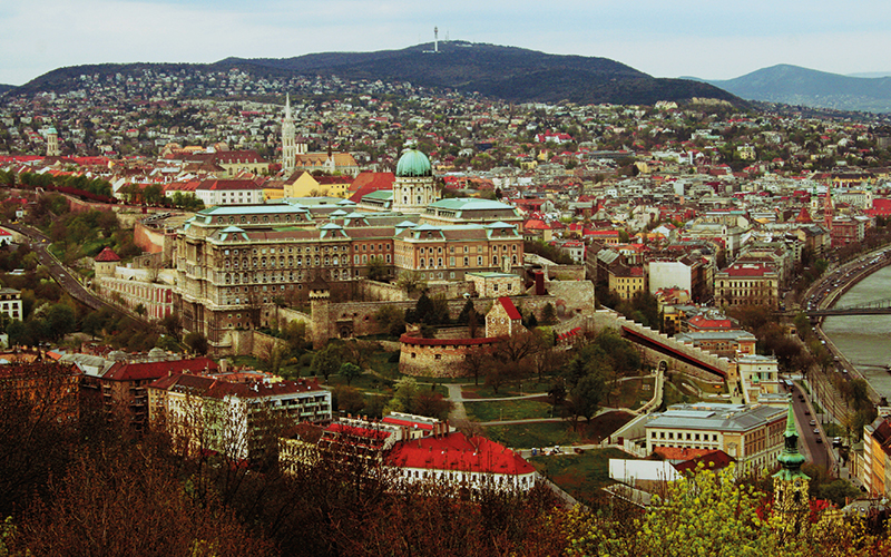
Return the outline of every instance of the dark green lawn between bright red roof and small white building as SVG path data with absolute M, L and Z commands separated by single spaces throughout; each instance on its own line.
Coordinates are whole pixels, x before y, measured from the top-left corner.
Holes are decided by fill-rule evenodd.
M 596 492 L 611 483 L 609 459 L 633 459 L 618 449 L 587 450 L 584 455 L 532 457 L 536 469 L 580 501 L 591 501 Z

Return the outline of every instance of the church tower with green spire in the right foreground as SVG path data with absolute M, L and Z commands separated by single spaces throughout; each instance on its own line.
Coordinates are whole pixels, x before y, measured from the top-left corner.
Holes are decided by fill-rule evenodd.
M 773 507 L 781 517 L 781 528 L 787 534 L 797 534 L 807 522 L 810 514 L 810 477 L 801 471 L 804 455 L 799 452 L 799 433 L 795 429 L 795 413 L 789 402 L 785 443 L 776 460 L 782 468 L 773 475 Z

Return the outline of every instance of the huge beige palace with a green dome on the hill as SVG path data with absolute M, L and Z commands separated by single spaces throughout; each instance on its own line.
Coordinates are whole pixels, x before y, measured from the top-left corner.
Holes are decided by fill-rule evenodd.
M 198 212 L 177 231 L 174 248 L 173 304 L 184 330 L 204 334 L 215 353 L 234 351 L 236 331 L 276 325 L 275 307 L 305 303 L 313 281 L 349 293 L 372 263 L 385 276 L 417 272 L 424 281 L 521 271 L 516 209 L 480 199 L 438 202 L 424 154 L 408 149 L 393 190 L 366 197 L 383 193 L 392 207 L 310 197 Z

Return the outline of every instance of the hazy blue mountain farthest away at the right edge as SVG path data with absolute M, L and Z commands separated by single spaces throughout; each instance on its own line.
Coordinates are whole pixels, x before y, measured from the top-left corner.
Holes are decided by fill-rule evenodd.
M 781 63 L 734 79 L 704 79 L 748 100 L 891 113 L 891 77 L 850 77 Z

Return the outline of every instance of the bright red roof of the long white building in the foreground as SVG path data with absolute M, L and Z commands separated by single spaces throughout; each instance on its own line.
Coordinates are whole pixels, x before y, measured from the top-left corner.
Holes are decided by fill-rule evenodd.
M 444 437 L 399 442 L 386 456 L 388 463 L 401 468 L 459 470 L 519 476 L 535 468 L 518 453 L 484 437 L 467 438 L 453 432 Z

